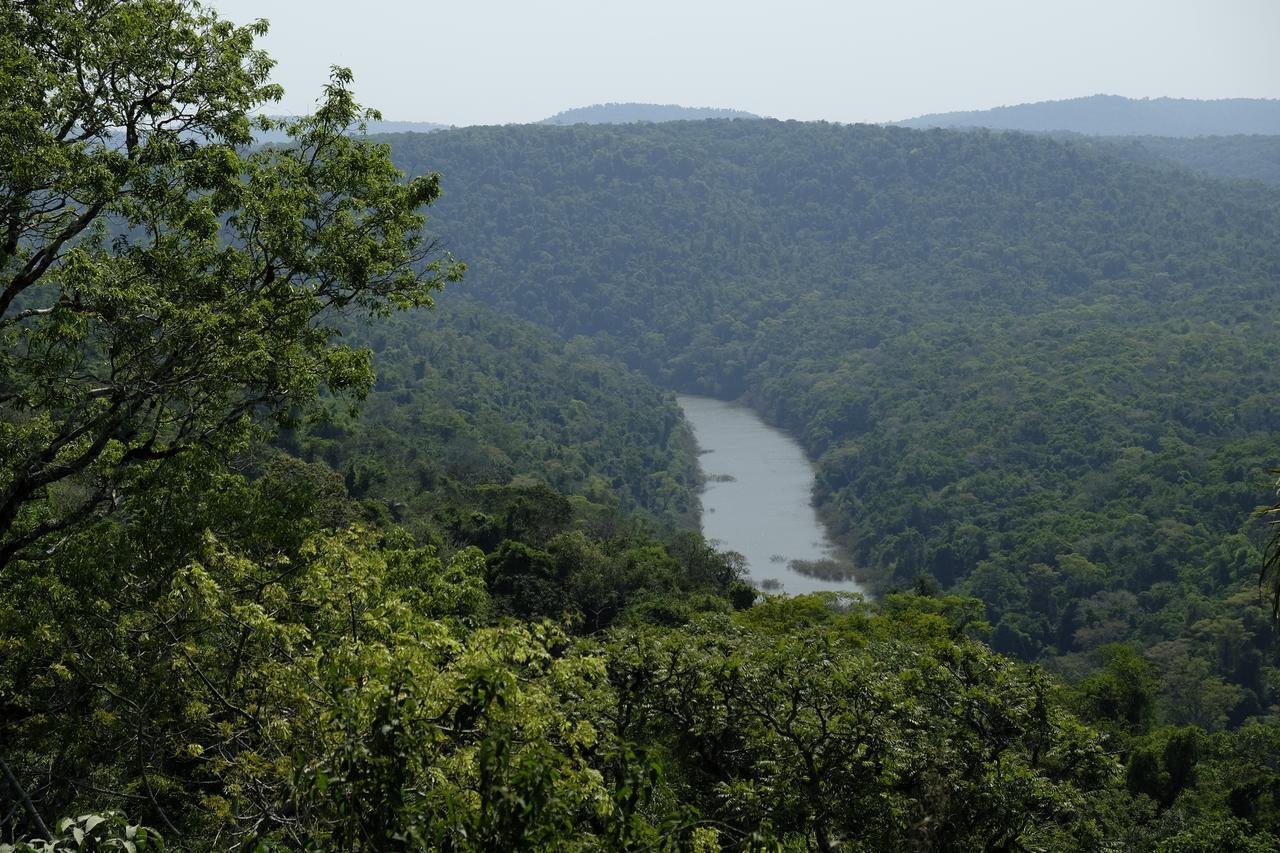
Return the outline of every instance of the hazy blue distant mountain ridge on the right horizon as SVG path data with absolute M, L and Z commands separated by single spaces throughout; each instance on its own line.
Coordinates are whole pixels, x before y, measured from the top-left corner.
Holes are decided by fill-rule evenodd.
M 1233 97 L 1190 100 L 1132 99 L 1091 95 L 989 110 L 934 113 L 893 122 L 910 128 L 977 128 L 1001 131 L 1074 131 L 1094 136 L 1229 136 L 1280 134 L 1280 100 Z

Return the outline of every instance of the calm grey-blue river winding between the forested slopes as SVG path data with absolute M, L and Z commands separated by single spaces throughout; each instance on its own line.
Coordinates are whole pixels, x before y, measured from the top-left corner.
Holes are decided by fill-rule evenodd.
M 800 444 L 745 406 L 689 394 L 676 401 L 701 451 L 703 535 L 746 557 L 765 592 L 861 592 L 856 580 L 824 580 L 791 565 L 842 558 L 813 507 L 813 465 Z

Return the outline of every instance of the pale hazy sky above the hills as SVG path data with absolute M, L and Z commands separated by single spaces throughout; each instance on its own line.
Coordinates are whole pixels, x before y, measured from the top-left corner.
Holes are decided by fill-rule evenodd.
M 884 122 L 1098 92 L 1280 97 L 1280 0 L 209 0 L 266 18 L 280 113 L 329 65 L 388 119 L 648 101 Z

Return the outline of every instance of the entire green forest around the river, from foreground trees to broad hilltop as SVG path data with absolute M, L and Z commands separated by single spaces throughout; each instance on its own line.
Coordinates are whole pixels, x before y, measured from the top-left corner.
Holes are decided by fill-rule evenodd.
M 369 136 L 342 68 L 256 118 L 264 33 L 0 5 L 0 850 L 1280 849 L 1280 192 Z M 677 391 L 801 441 L 873 598 L 698 533 Z

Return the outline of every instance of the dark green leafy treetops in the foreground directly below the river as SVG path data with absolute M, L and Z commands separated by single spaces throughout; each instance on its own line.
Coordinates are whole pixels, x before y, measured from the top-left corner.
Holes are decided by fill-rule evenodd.
M 1103 831 L 1117 768 L 1042 678 L 906 599 L 810 626 L 772 624 L 776 606 L 627 634 L 611 654 L 620 719 L 730 838 L 1079 849 Z

